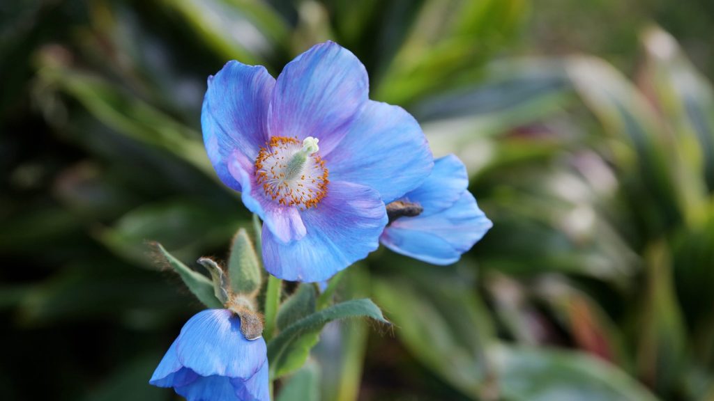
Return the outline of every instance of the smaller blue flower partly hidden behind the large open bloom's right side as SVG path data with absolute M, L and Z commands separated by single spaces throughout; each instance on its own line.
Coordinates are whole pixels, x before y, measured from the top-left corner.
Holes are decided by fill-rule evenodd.
M 466 166 L 453 155 L 438 158 L 426 181 L 398 200 L 418 211 L 393 220 L 381 243 L 427 263 L 455 263 L 493 226 L 467 188 Z

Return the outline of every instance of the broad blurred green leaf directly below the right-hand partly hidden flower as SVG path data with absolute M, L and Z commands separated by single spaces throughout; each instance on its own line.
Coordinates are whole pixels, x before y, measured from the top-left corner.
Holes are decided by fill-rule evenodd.
M 398 339 L 425 367 L 477 398 L 487 377 L 485 346 L 493 337 L 485 306 L 463 280 L 409 267 L 411 278 L 374 279 L 375 298 L 389 311 Z

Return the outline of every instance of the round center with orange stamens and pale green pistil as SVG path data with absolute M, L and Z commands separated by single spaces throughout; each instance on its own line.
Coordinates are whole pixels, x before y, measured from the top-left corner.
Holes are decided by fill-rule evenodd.
M 266 196 L 286 206 L 315 207 L 327 195 L 328 172 L 318 139 L 273 136 L 256 158 L 256 181 Z

